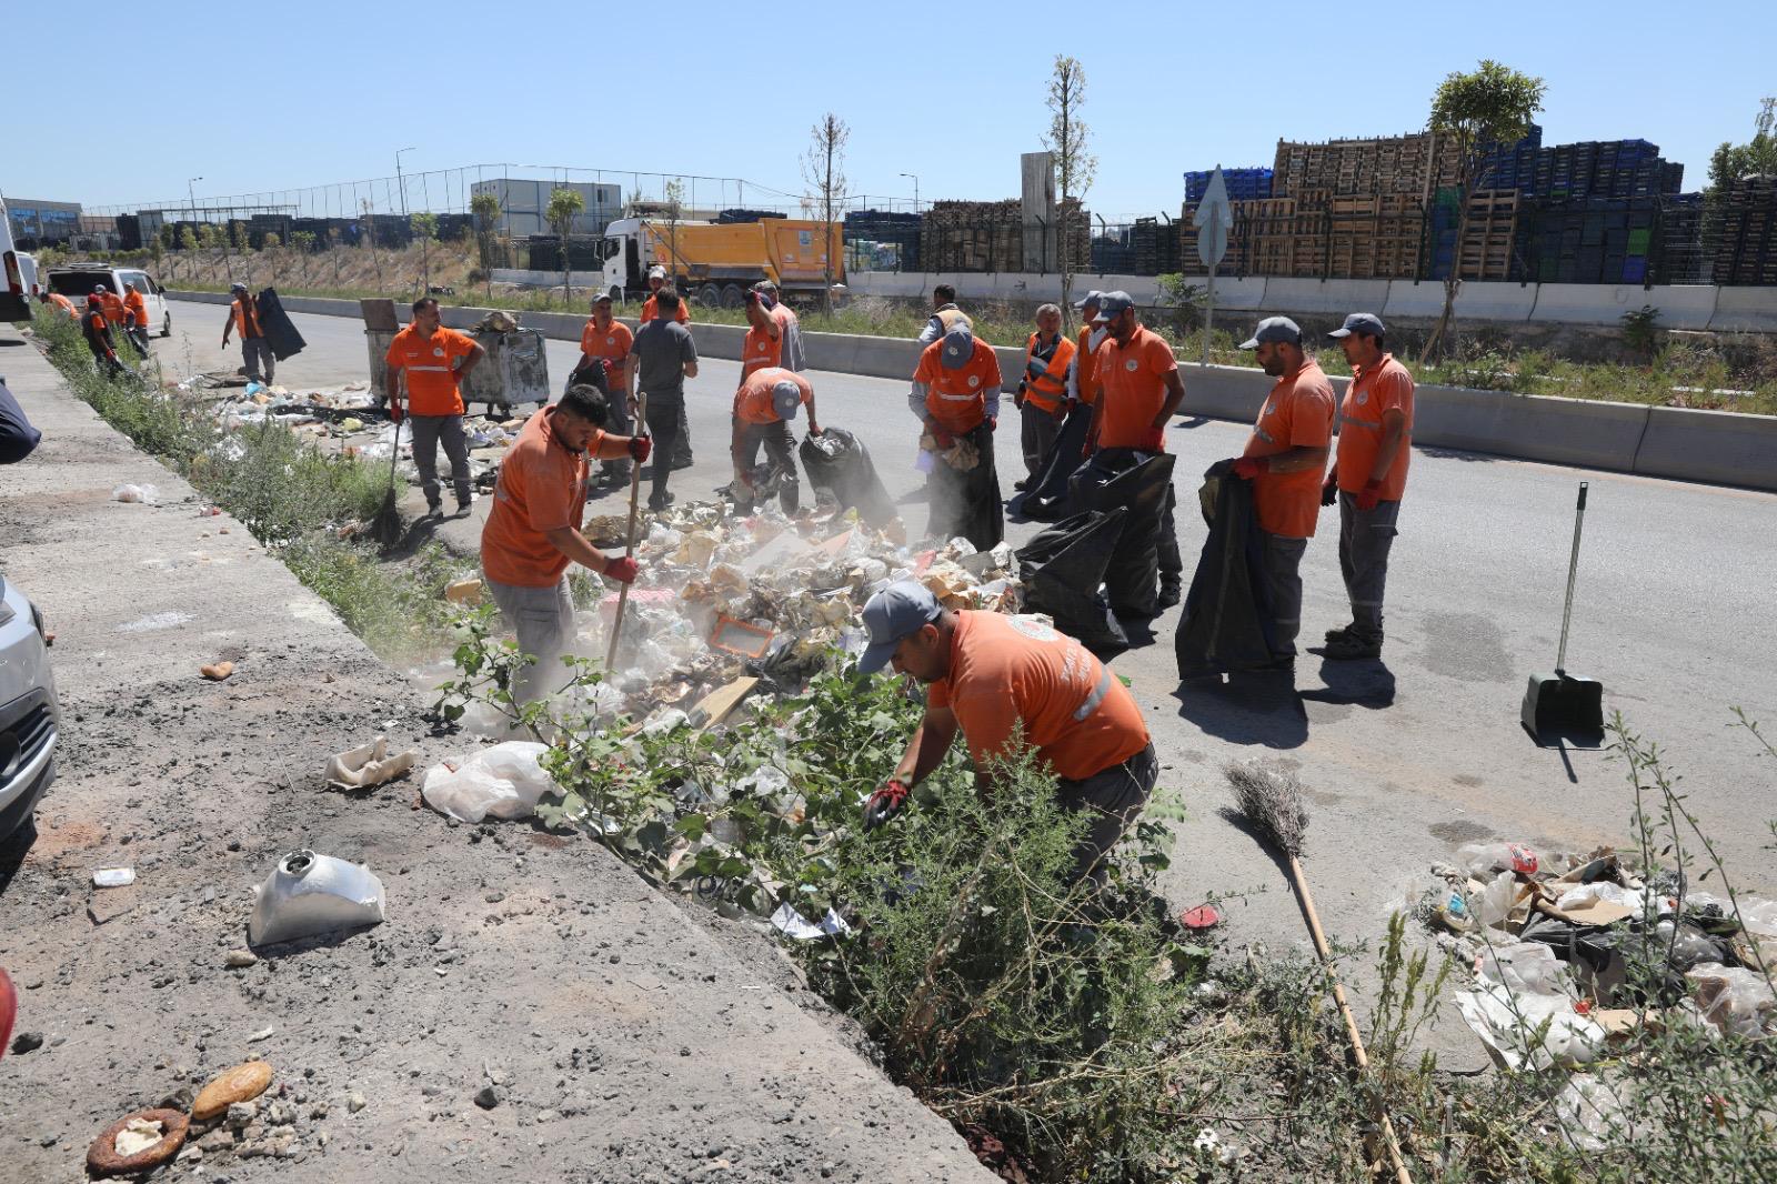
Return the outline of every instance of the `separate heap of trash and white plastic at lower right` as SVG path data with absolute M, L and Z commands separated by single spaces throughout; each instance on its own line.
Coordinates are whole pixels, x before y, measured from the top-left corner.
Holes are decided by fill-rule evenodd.
M 1432 914 L 1475 972 L 1457 1010 L 1507 1068 L 1589 1070 L 1651 1024 L 1777 1035 L 1777 901 L 1736 905 L 1676 871 L 1644 876 L 1610 848 L 1470 843 L 1432 873 Z M 1630 1127 L 1617 1093 L 1573 1072 L 1557 1111 L 1599 1147 Z

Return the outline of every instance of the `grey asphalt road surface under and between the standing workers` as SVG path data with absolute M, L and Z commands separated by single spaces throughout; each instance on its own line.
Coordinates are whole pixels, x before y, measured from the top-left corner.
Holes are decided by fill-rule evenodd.
M 213 306 L 174 306 L 181 334 L 206 325 L 190 345 L 199 366 L 224 361 L 215 350 L 220 320 Z M 366 375 L 355 320 L 295 320 L 309 350 L 279 372 L 291 389 Z M 169 359 L 183 357 L 179 338 L 171 345 Z M 565 375 L 572 359 L 570 343 L 549 343 L 551 373 Z M 673 478 L 681 498 L 729 476 L 736 373 L 736 363 L 707 361 L 691 384 L 698 466 Z M 924 507 L 913 501 L 920 478 L 906 386 L 833 373 L 812 380 L 823 423 L 865 441 L 917 533 Z M 1183 420 L 1169 437 L 1189 569 L 1205 533 L 1189 512 L 1196 475 L 1237 453 L 1246 428 Z M 997 459 L 1011 492 L 1020 466 L 1013 432 L 999 436 Z M 1169 873 L 1180 901 L 1267 887 L 1231 907 L 1237 932 L 1274 942 L 1301 932 L 1278 869 L 1219 814 L 1230 802 L 1219 766 L 1253 754 L 1294 763 L 1313 791 L 1317 903 L 1329 928 L 1352 939 L 1377 932 L 1407 873 L 1461 841 L 1590 848 L 1624 839 L 1631 800 L 1621 764 L 1601 752 L 1539 750 L 1518 727 L 1526 677 L 1555 658 L 1578 480 L 1592 482 L 1592 500 L 1569 667 L 1603 679 L 1606 711 L 1621 709 L 1635 731 L 1658 738 L 1731 868 L 1777 891 L 1765 825 L 1777 816 L 1777 764 L 1761 763 L 1750 736 L 1729 729 L 1729 708 L 1743 706 L 1777 731 L 1777 496 L 1420 450 L 1390 572 L 1383 663 L 1304 656 L 1295 686 L 1246 677 L 1180 690 L 1171 649 L 1178 610 L 1155 622 L 1153 645 L 1116 660 L 1148 711 L 1167 764 L 1162 784 L 1189 811 Z M 469 540 L 474 526 L 451 530 Z M 1034 530 L 1013 524 L 1009 537 Z M 1335 533 L 1311 540 L 1303 578 L 1303 635 L 1311 642 L 1349 617 Z

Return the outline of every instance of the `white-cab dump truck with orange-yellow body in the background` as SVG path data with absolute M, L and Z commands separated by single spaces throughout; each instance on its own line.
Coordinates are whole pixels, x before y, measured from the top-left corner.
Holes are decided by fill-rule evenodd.
M 746 288 L 761 279 L 773 281 L 791 300 L 817 300 L 828 260 L 833 283 L 846 279 L 839 222 L 618 219 L 604 229 L 601 254 L 602 286 L 617 300 L 645 297 L 652 267 L 666 268 L 681 293 L 711 308 L 739 308 Z

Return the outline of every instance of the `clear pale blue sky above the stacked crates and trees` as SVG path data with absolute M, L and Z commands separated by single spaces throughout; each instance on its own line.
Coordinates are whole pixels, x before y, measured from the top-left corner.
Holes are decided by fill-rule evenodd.
M 1047 130 L 1057 52 L 1086 66 L 1088 204 L 1109 220 L 1176 215 L 1185 169 L 1269 165 L 1279 137 L 1423 126 L 1438 80 L 1480 57 L 1548 80 L 1546 144 L 1649 139 L 1697 188 L 1715 144 L 1747 139 L 1777 92 L 1770 5 L 1740 2 L 100 7 L 119 12 L 103 27 L 121 66 L 94 66 L 91 91 L 59 59 L 103 59 L 71 34 L 96 9 L 4 18 L 55 96 L 14 80 L 25 110 L 44 105 L 7 130 L 9 196 L 183 199 L 190 176 L 199 199 L 295 190 L 387 176 L 414 146 L 414 172 L 697 172 L 745 178 L 743 197 L 771 204 L 801 192 L 809 126 L 833 110 L 851 124 L 853 194 L 910 199 L 899 174 L 915 172 L 928 203 L 999 199 Z

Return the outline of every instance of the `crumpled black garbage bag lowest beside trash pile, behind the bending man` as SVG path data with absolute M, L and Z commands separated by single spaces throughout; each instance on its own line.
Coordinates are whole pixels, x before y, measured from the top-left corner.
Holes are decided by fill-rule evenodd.
M 1024 606 L 1054 617 L 1057 629 L 1096 658 L 1128 649 L 1128 636 L 1102 588 L 1127 516 L 1123 507 L 1075 514 L 1016 551 Z

